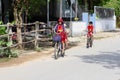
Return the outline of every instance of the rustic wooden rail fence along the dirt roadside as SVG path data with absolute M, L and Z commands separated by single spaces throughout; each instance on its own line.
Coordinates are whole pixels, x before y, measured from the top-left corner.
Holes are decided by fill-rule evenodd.
M 39 42 L 46 42 L 52 40 L 52 28 L 47 27 L 47 24 L 43 22 L 34 22 L 34 23 L 28 23 L 28 24 L 21 24 L 20 25 L 21 34 L 20 37 L 22 39 L 22 42 L 19 43 L 16 40 L 13 40 L 13 36 L 17 36 L 16 34 L 16 26 L 7 24 L 7 25 L 0 25 L 0 27 L 6 27 L 7 34 L 0 35 L 0 39 L 3 37 L 7 37 L 8 42 L 11 42 L 12 45 L 9 48 L 17 47 L 22 45 L 22 48 L 25 48 L 25 44 L 29 44 L 29 46 L 32 46 L 30 43 L 34 45 L 34 47 L 39 47 Z M 0 49 L 6 49 L 8 47 L 0 47 Z

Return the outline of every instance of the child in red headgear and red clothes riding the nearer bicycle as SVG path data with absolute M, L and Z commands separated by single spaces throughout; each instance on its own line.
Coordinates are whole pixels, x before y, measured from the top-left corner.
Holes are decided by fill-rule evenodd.
M 62 52 L 65 50 L 65 43 L 67 42 L 67 33 L 64 26 L 64 22 L 62 18 L 59 18 L 56 26 L 54 27 L 54 32 L 61 37 L 62 42 Z

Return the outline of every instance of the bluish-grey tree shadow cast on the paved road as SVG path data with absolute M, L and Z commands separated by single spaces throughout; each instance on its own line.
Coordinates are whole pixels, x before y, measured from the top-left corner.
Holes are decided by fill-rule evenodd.
M 120 52 L 101 52 L 99 55 L 75 56 L 79 57 L 86 63 L 100 64 L 105 68 L 120 68 Z

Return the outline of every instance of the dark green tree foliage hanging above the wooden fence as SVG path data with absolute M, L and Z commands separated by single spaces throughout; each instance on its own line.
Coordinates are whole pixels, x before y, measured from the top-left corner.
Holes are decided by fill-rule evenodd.
M 32 19 L 34 16 L 46 16 L 47 6 L 46 0 L 15 0 L 14 8 L 18 10 L 19 13 L 21 10 L 27 13 L 28 19 Z

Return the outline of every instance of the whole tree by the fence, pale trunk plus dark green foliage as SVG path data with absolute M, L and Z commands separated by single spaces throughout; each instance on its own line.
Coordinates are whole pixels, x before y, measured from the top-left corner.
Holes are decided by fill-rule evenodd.
M 46 3 L 46 0 L 13 0 L 14 20 L 15 25 L 17 26 L 18 43 L 22 44 L 21 26 L 23 23 L 23 12 L 25 12 L 25 22 L 27 23 L 28 17 L 39 16 L 44 10 L 46 10 L 44 9 Z M 44 16 L 45 14 L 42 15 Z M 22 46 L 20 46 L 20 48 L 22 48 Z

